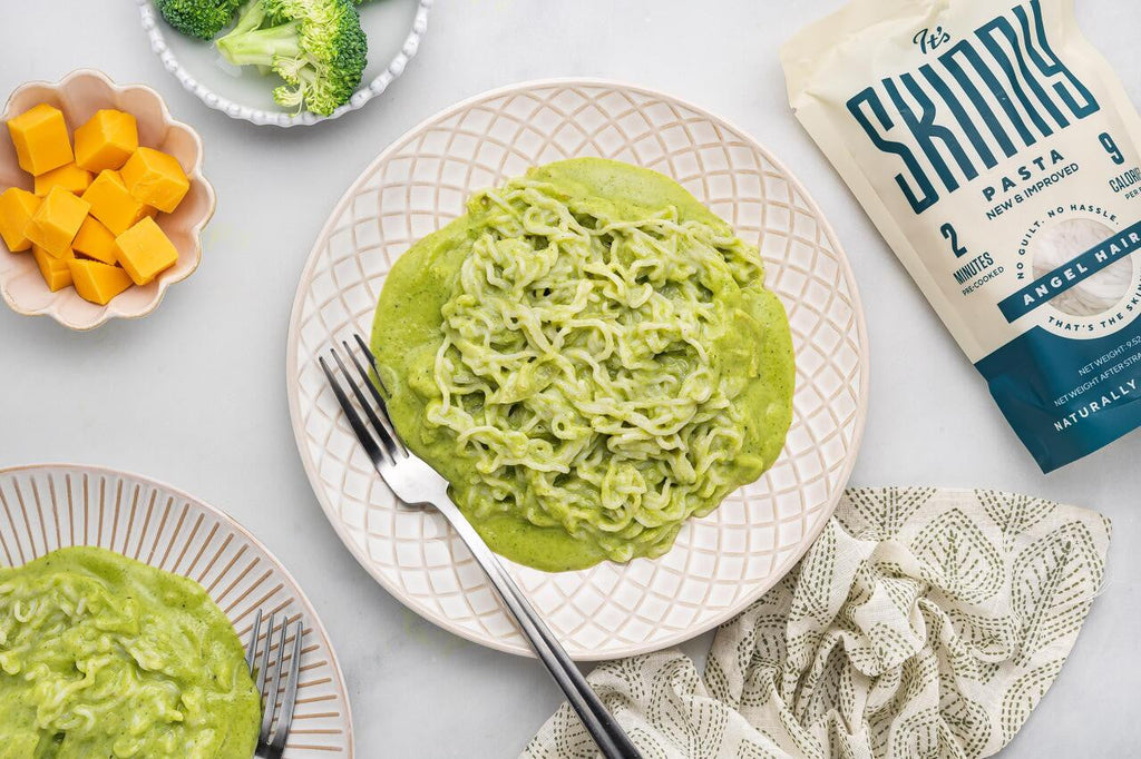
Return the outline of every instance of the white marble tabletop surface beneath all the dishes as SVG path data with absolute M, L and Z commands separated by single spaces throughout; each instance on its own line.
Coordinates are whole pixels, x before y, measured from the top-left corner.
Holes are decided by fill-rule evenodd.
M 399 2 L 406 0 L 380 0 Z M 1077 0 L 1141 103 L 1141 10 Z M 15 9 L 19 6 L 19 10 Z M 529 660 L 485 651 L 407 612 L 333 534 L 301 471 L 285 407 L 285 329 L 325 217 L 365 164 L 426 116 L 540 76 L 628 80 L 699 104 L 800 174 L 856 269 L 872 340 L 872 406 L 856 484 L 1003 488 L 1114 520 L 1109 578 L 1054 688 L 1010 757 L 1141 752 L 1141 432 L 1043 476 L 906 272 L 786 107 L 777 47 L 839 0 L 438 0 L 420 56 L 364 111 L 280 131 L 183 91 L 131 0 L 6 0 L 0 93 L 102 68 L 146 82 L 205 142 L 218 213 L 202 268 L 157 312 L 91 334 L 0 309 L 0 465 L 79 462 L 168 481 L 229 511 L 293 571 L 330 629 L 359 756 L 515 756 L 559 696 Z M 699 654 L 707 636 L 687 646 Z

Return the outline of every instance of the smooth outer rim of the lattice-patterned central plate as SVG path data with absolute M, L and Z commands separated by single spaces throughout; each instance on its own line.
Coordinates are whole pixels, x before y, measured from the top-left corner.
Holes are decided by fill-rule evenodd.
M 333 226 L 338 220 L 338 218 L 348 209 L 351 197 L 354 196 L 354 190 L 357 189 L 357 187 L 362 183 L 364 178 L 371 172 L 373 172 L 377 169 L 377 166 L 380 165 L 383 161 L 388 160 L 388 157 L 391 154 L 394 154 L 399 147 L 402 147 L 403 144 L 407 140 L 407 138 L 411 137 L 412 134 L 420 132 L 421 130 L 426 129 L 428 125 L 435 122 L 446 120 L 447 117 L 484 100 L 495 99 L 499 97 L 503 97 L 505 95 L 510 95 L 512 92 L 536 90 L 542 88 L 560 87 L 568 84 L 581 85 L 581 87 L 604 87 L 604 88 L 630 90 L 642 95 L 648 95 L 654 98 L 672 100 L 673 103 L 685 106 L 696 113 L 704 114 L 705 116 L 714 121 L 723 123 L 726 126 L 728 126 L 737 134 L 739 134 L 752 149 L 760 152 L 769 162 L 771 162 L 771 164 L 775 168 L 784 172 L 785 177 L 791 181 L 795 190 L 799 191 L 801 197 L 804 198 L 806 204 L 808 205 L 809 210 L 812 211 L 815 220 L 817 221 L 817 223 L 820 225 L 828 240 L 835 243 L 836 246 L 835 252 L 839 254 L 837 261 L 841 267 L 841 272 L 844 276 L 844 280 L 848 281 L 851 286 L 851 300 L 853 305 L 852 316 L 856 321 L 856 332 L 859 337 L 860 346 L 863 348 L 859 354 L 860 389 L 855 410 L 855 429 L 852 431 L 851 452 L 845 457 L 844 464 L 841 467 L 841 475 L 842 475 L 841 480 L 845 484 L 837 489 L 836 495 L 832 498 L 832 503 L 825 507 L 827 511 L 827 516 L 822 515 L 822 519 L 818 521 L 818 523 L 812 528 L 812 530 L 809 531 L 808 539 L 803 541 L 802 548 L 799 552 L 792 554 L 787 560 L 785 560 L 784 564 L 782 564 L 772 572 L 772 581 L 768 585 L 768 587 L 746 596 L 741 603 L 730 606 L 725 612 L 713 615 L 710 620 L 706 620 L 694 627 L 686 628 L 685 630 L 674 634 L 672 636 L 669 636 L 663 640 L 642 643 L 638 645 L 626 645 L 622 647 L 616 647 L 613 651 L 607 650 L 605 653 L 575 652 L 570 654 L 572 659 L 574 659 L 575 661 L 586 662 L 586 661 L 608 661 L 613 659 L 624 659 L 628 656 L 637 656 L 641 654 L 654 653 L 657 651 L 664 651 L 665 648 L 669 648 L 671 646 L 682 644 L 687 640 L 691 640 L 697 636 L 703 635 L 723 625 L 725 622 L 738 615 L 741 612 L 745 611 L 758 598 L 763 596 L 777 582 L 779 582 L 780 579 L 784 578 L 792 570 L 792 568 L 803 557 L 804 553 L 808 552 L 808 548 L 814 542 L 816 542 L 816 539 L 820 536 L 820 532 L 824 530 L 824 525 L 827 524 L 828 520 L 832 517 L 832 514 L 835 512 L 836 505 L 840 503 L 840 498 L 843 496 L 844 487 L 851 479 L 851 473 L 853 467 L 856 466 L 856 460 L 857 458 L 859 458 L 859 449 L 863 444 L 864 431 L 867 425 L 867 407 L 869 400 L 868 385 L 871 375 L 871 350 L 868 345 L 866 315 L 864 310 L 864 303 L 859 294 L 859 285 L 856 280 L 855 272 L 852 271 L 851 268 L 851 260 L 848 258 L 848 254 L 844 251 L 843 245 L 841 245 L 840 238 L 836 236 L 835 229 L 832 227 L 832 223 L 828 221 L 827 217 L 824 214 L 824 211 L 820 209 L 816 199 L 808 193 L 807 188 L 801 182 L 800 177 L 793 173 L 784 164 L 784 162 L 777 158 L 776 155 L 771 150 L 769 150 L 760 140 L 753 137 L 750 132 L 741 129 L 733 121 L 725 119 L 719 114 L 709 111 L 707 108 L 697 106 L 685 98 L 680 98 L 670 95 L 667 92 L 663 92 L 655 88 L 644 87 L 641 84 L 631 84 L 629 82 L 624 82 L 621 80 L 593 77 L 593 76 L 555 76 L 555 77 L 542 77 L 542 79 L 533 79 L 533 80 L 525 80 L 521 82 L 515 82 L 512 84 L 507 84 L 503 87 L 497 87 L 482 92 L 477 92 L 476 95 L 463 98 L 462 100 L 451 106 L 447 106 L 445 108 L 442 108 L 440 111 L 429 114 L 426 119 L 419 121 L 416 124 L 402 132 L 396 139 L 394 139 L 391 142 L 385 146 L 385 148 L 380 153 L 378 153 L 377 156 L 373 157 L 361 170 L 361 172 L 356 176 L 356 178 L 353 179 L 353 181 L 346 188 L 345 193 L 341 195 L 341 197 L 333 205 L 332 210 L 329 212 L 329 218 L 325 220 L 325 223 L 322 225 L 321 230 L 317 232 L 317 237 L 314 242 L 314 245 L 309 251 L 308 258 L 306 259 L 305 267 L 301 269 L 301 275 L 298 280 L 297 293 L 294 294 L 293 297 L 293 305 L 290 309 L 289 328 L 285 334 L 285 341 L 286 341 L 285 391 L 286 391 L 286 401 L 289 406 L 290 426 L 293 429 L 293 439 L 294 442 L 297 443 L 298 456 L 301 459 L 301 466 L 305 470 L 306 478 L 309 481 L 309 487 L 313 490 L 313 493 L 316 497 L 317 503 L 321 505 L 321 509 L 322 512 L 324 512 L 325 519 L 329 521 L 330 525 L 333 528 L 333 531 L 337 533 L 337 537 L 340 538 L 342 544 L 345 544 L 345 547 L 349 550 L 349 553 L 357 561 L 357 563 L 361 564 L 362 569 L 364 569 L 370 577 L 372 577 L 378 583 L 380 583 L 380 586 L 385 588 L 386 591 L 388 591 L 388 595 L 399 601 L 400 604 L 403 604 L 406 609 L 415 613 L 418 617 L 426 619 L 429 622 L 436 625 L 437 627 L 445 629 L 454 635 L 458 635 L 461 638 L 471 640 L 472 643 L 477 643 L 488 648 L 502 651 L 504 653 L 510 653 L 527 658 L 535 656 L 534 652 L 527 645 L 521 645 L 521 646 L 512 645 L 510 643 L 500 640 L 499 638 L 493 639 L 493 638 L 480 637 L 476 631 L 454 623 L 451 618 L 438 617 L 438 615 L 428 617 L 423 613 L 423 610 L 412 606 L 410 601 L 404 598 L 403 594 L 398 593 L 397 588 L 393 583 L 390 583 L 381 572 L 379 572 L 375 568 L 372 566 L 371 560 L 362 554 L 361 547 L 358 547 L 356 545 L 356 541 L 346 533 L 345 528 L 341 524 L 340 517 L 338 516 L 337 519 L 334 519 L 332 512 L 332 505 L 327 503 L 327 499 L 324 496 L 323 488 L 318 487 L 322 482 L 319 473 L 316 471 L 316 466 L 306 450 L 307 443 L 305 440 L 305 434 L 301 429 L 301 423 L 304 422 L 304 417 L 299 418 L 300 414 L 300 401 L 298 398 L 299 386 L 298 383 L 293 381 L 298 369 L 298 357 L 297 357 L 298 341 L 296 338 L 299 337 L 300 335 L 300 320 L 301 320 L 301 310 L 305 305 L 306 284 L 311 280 L 313 271 L 317 263 L 317 256 L 321 252 L 321 242 L 325 239 L 326 236 L 332 231 Z M 451 525 L 448 525 L 447 529 L 452 530 Z M 501 603 L 499 598 L 496 598 L 496 603 L 497 604 Z

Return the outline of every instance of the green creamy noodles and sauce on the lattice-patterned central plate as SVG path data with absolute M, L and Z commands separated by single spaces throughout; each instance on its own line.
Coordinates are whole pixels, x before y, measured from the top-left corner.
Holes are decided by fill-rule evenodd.
M 372 343 L 408 447 L 492 549 L 547 571 L 665 553 L 772 465 L 792 418 L 788 323 L 755 250 L 677 182 L 614 161 L 477 196 L 397 260 Z

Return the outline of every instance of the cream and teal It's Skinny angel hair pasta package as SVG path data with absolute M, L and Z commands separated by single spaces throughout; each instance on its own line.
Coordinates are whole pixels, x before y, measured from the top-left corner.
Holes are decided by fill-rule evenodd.
M 1070 0 L 853 0 L 798 119 L 1043 472 L 1141 425 L 1141 119 Z

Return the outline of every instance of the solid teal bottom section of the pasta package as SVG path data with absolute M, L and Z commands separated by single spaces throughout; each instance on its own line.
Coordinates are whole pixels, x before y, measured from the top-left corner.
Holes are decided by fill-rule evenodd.
M 1043 472 L 1141 426 L 1141 320 L 1097 340 L 1034 327 L 974 366 Z

